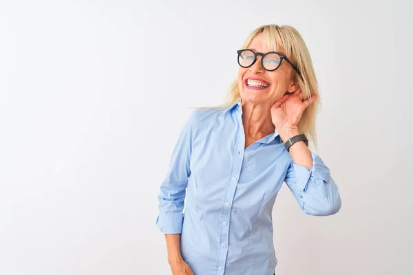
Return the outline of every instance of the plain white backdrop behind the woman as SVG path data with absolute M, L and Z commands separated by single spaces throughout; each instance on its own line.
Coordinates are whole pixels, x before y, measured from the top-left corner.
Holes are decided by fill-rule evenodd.
M 277 275 L 413 274 L 412 8 L 1 0 L 0 274 L 171 274 L 155 221 L 180 127 L 223 102 L 236 50 L 268 23 L 310 50 L 317 153 L 343 203 L 311 217 L 283 186 Z

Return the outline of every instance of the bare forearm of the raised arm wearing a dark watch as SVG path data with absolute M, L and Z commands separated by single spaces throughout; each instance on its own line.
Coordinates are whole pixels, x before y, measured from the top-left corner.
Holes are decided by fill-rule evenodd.
M 288 129 L 284 131 L 279 131 L 279 136 L 281 137 L 282 141 L 285 143 L 290 137 L 295 135 L 299 135 L 298 129 Z M 304 141 L 295 142 L 292 146 L 290 146 L 290 155 L 293 159 L 293 162 L 297 165 L 304 166 L 308 168 L 308 170 L 313 167 L 313 157 L 311 157 L 311 151 L 306 146 Z

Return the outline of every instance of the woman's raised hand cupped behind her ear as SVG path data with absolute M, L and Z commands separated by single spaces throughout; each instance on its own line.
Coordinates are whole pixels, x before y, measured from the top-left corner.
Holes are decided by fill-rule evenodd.
M 278 131 L 293 132 L 298 130 L 298 122 L 304 110 L 317 98 L 313 94 L 311 98 L 303 101 L 303 94 L 298 88 L 293 94 L 285 94 L 271 107 L 271 120 Z

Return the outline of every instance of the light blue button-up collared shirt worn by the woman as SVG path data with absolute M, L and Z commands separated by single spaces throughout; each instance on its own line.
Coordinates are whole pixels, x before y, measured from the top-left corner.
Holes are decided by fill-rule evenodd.
M 221 111 L 192 111 L 160 185 L 156 225 L 181 234 L 182 259 L 195 275 L 274 274 L 272 210 L 284 181 L 306 214 L 341 208 L 318 155 L 311 153 L 310 170 L 295 164 L 277 129 L 244 149 L 241 115 L 240 100 Z

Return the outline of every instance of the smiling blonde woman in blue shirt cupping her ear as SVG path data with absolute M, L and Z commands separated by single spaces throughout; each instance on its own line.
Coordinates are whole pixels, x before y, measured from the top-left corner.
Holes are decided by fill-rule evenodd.
M 319 100 L 300 34 L 264 25 L 237 53 L 228 104 L 189 115 L 160 186 L 156 225 L 173 275 L 274 274 L 271 214 L 284 181 L 306 214 L 341 208 L 330 170 L 308 149 Z

